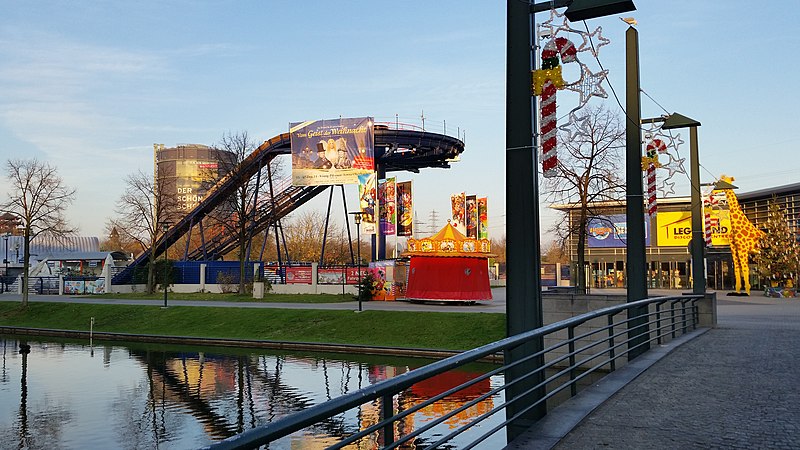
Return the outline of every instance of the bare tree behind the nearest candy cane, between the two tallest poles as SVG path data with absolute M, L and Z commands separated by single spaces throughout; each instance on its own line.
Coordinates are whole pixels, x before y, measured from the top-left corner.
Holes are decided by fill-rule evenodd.
M 559 134 L 558 174 L 544 179 L 547 201 L 570 205 L 570 211 L 562 215 L 552 231 L 561 245 L 570 239 L 577 241 L 578 292 L 586 292 L 586 227 L 589 219 L 597 215 L 595 205 L 622 205 L 624 137 L 625 129 L 611 111 L 602 107 L 586 109 L 574 128 Z M 608 207 L 608 203 L 604 206 Z

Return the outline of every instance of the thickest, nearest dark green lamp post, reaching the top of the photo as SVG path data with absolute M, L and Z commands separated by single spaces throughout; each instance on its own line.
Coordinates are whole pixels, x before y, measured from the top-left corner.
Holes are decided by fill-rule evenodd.
M 535 13 L 562 7 L 567 7 L 565 15 L 572 21 L 636 9 L 631 0 L 554 0 L 533 5 L 519 0 L 506 2 L 506 236 L 512 244 L 506 250 L 506 332 L 509 336 L 543 325 L 538 149 L 533 139 L 536 97 L 531 96 L 531 63 Z M 545 395 L 544 389 L 534 388 L 544 377 L 529 376 L 544 364 L 541 356 L 530 357 L 543 346 L 543 340 L 539 339 L 505 354 L 506 364 L 514 364 L 505 374 L 507 383 L 514 382 L 506 392 L 508 399 L 515 400 L 506 410 L 507 417 L 515 418 L 507 428 L 509 442 L 546 413 L 541 404 L 528 408 Z

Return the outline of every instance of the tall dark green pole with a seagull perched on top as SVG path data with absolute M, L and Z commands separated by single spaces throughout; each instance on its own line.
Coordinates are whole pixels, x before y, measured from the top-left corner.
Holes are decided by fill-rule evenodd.
M 626 95 L 625 109 L 625 212 L 628 227 L 628 297 L 635 302 L 647 298 L 647 256 L 645 253 L 644 191 L 642 188 L 642 112 L 639 95 L 639 32 L 629 27 L 625 32 Z M 647 344 L 647 307 L 628 310 L 628 359 L 633 359 L 650 348 Z

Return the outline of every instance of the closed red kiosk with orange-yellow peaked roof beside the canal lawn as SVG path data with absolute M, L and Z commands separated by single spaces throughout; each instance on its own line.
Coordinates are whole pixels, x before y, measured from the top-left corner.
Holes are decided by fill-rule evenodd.
M 447 221 L 434 236 L 409 239 L 408 300 L 487 301 L 489 286 L 488 239 L 461 234 Z

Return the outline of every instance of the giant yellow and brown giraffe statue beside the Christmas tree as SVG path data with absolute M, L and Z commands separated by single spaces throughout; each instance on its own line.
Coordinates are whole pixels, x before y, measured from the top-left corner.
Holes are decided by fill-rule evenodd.
M 720 175 L 722 181 L 733 182 L 734 178 Z M 753 225 L 747 216 L 744 215 L 742 207 L 733 189 L 723 189 L 725 199 L 728 201 L 728 209 L 731 216 L 731 255 L 733 256 L 733 273 L 736 276 L 736 293 L 742 291 L 742 281 L 744 281 L 744 295 L 750 295 L 750 266 L 748 265 L 750 254 L 758 252 L 764 232 Z

